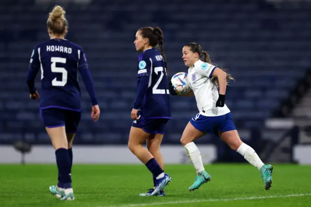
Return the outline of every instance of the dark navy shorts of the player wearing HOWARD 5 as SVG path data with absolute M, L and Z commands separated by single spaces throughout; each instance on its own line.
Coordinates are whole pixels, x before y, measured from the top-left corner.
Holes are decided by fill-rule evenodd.
M 61 108 L 40 109 L 42 122 L 48 128 L 65 126 L 66 133 L 76 133 L 81 119 L 80 111 Z

